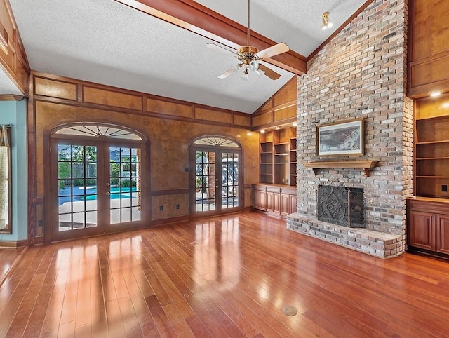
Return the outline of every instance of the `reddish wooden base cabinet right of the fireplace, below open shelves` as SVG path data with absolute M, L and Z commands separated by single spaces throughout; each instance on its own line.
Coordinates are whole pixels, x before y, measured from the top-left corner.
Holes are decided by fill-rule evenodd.
M 408 245 L 449 258 L 449 201 L 408 199 Z

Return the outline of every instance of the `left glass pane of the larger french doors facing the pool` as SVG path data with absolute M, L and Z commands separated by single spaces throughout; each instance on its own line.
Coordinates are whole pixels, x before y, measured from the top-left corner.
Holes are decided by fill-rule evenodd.
M 58 144 L 59 231 L 97 224 L 97 147 Z

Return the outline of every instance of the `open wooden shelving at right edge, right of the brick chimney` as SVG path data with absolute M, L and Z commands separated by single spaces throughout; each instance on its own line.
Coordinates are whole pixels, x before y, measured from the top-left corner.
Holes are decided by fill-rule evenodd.
M 415 104 L 415 196 L 449 198 L 449 95 Z

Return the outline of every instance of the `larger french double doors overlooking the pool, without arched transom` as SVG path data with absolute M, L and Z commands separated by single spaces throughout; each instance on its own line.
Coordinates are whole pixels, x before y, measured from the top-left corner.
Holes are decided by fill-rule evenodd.
M 144 156 L 133 142 L 53 139 L 51 241 L 144 226 Z

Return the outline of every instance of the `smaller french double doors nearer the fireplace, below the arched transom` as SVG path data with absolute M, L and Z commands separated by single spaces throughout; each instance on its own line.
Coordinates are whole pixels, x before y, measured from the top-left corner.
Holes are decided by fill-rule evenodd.
M 194 158 L 194 217 L 242 210 L 241 151 L 194 147 Z

